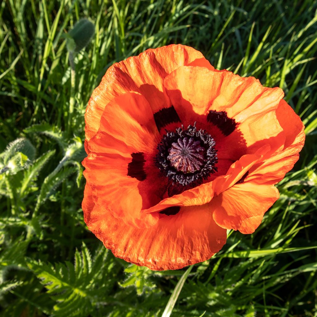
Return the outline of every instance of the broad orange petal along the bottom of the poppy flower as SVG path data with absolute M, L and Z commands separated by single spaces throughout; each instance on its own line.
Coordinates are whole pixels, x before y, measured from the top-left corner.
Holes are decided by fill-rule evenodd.
M 113 217 L 107 206 L 95 204 L 87 183 L 82 209 L 89 230 L 115 256 L 152 270 L 205 261 L 226 242 L 226 230 L 214 222 L 208 205 L 183 207 L 171 216 L 160 214 L 152 227 L 137 229 Z

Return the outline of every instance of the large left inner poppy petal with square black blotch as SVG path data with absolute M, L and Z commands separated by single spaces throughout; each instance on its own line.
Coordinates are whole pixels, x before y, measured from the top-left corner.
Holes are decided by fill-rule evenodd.
M 140 211 L 149 207 L 145 205 L 148 200 L 155 204 L 161 199 L 156 195 L 161 185 L 156 178 L 159 171 L 146 170 L 158 142 L 152 110 L 135 92 L 109 102 L 98 132 L 86 141 L 89 154 L 83 161 L 84 175 L 94 189 L 94 199 L 126 223 L 145 227 L 156 220 Z

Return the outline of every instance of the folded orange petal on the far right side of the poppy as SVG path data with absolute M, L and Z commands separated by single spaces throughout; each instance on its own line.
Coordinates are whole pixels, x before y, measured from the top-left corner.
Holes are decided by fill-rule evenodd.
M 229 187 L 214 197 L 210 203 L 214 206 L 216 223 L 223 228 L 239 230 L 242 233 L 254 232 L 264 213 L 279 197 L 274 184 L 278 183 L 298 160 L 298 152 L 301 151 L 305 140 L 300 117 L 281 100 L 276 109 L 276 118 L 282 132 L 270 141 L 264 139 L 263 142 L 271 145 L 275 143 L 278 146 L 244 170 L 247 176 L 241 184 Z M 216 196 L 222 189 L 217 186 L 217 179 L 214 184 Z

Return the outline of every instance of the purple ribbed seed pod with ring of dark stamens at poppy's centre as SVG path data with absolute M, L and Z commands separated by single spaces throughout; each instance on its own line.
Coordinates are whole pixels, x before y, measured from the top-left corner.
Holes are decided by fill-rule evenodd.
M 215 141 L 206 131 L 197 131 L 195 125 L 167 131 L 158 144 L 155 165 L 173 184 L 201 184 L 217 171 Z

